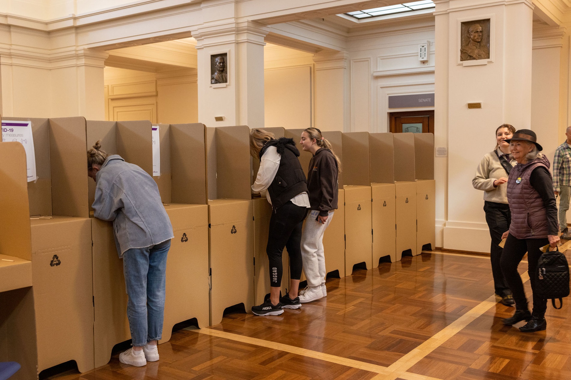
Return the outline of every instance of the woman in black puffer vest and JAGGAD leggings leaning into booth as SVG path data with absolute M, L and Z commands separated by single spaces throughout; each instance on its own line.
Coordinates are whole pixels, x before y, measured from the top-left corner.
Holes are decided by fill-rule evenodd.
M 301 277 L 301 228 L 309 207 L 307 180 L 299 163 L 299 150 L 292 138 L 274 138 L 262 129 L 250 132 L 250 154 L 260 160 L 252 185 L 254 193 L 267 192 L 272 205 L 266 252 L 270 260 L 270 298 L 252 307 L 256 315 L 279 315 L 283 308 L 301 307 L 297 290 Z M 280 298 L 282 252 L 287 247 L 291 280 L 289 291 Z

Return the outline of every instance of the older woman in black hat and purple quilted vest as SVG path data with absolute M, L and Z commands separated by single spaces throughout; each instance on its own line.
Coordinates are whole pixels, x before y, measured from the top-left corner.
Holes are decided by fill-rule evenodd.
M 512 289 L 516 312 L 503 320 L 506 325 L 528 321 L 520 331 L 530 333 L 545 330 L 547 300 L 536 294 L 537 260 L 540 248 L 549 244 L 552 248 L 559 242 L 557 206 L 553 194 L 553 181 L 549 173 L 549 160 L 540 153 L 535 132 L 529 129 L 516 130 L 509 140 L 510 152 L 517 165 L 509 173 L 508 203 L 512 214 L 501 268 Z M 533 312 L 528 309 L 524 285 L 517 272 L 517 265 L 528 252 L 528 273 L 532 285 Z

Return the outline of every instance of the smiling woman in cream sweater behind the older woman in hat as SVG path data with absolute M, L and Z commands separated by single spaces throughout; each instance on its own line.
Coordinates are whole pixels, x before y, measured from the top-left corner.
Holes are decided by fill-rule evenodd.
M 496 148 L 484 155 L 480 165 L 476 168 L 476 175 L 472 179 L 474 189 L 484 191 L 484 212 L 490 230 L 490 260 L 492 261 L 492 275 L 494 289 L 500 303 L 506 306 L 514 304 L 512 291 L 506 284 L 500 267 L 502 248 L 498 246 L 501 235 L 509 230 L 511 215 L 506 193 L 509 171 L 515 164 L 509 154 L 509 139 L 516 129 L 510 124 L 502 124 L 496 129 Z

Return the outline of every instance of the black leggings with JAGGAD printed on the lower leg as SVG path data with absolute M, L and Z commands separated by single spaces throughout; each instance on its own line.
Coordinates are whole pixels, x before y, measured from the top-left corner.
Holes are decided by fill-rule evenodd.
M 307 209 L 296 206 L 291 201 L 272 213 L 266 253 L 270 260 L 270 286 L 282 285 L 282 252 L 284 247 L 289 254 L 289 269 L 293 280 L 301 277 L 301 227 Z

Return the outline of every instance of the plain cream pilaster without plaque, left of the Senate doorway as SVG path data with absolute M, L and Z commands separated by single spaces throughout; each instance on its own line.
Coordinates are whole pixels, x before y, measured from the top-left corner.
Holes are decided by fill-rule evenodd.
M 349 74 L 346 52 L 318 53 L 315 62 L 315 126 L 349 132 Z

